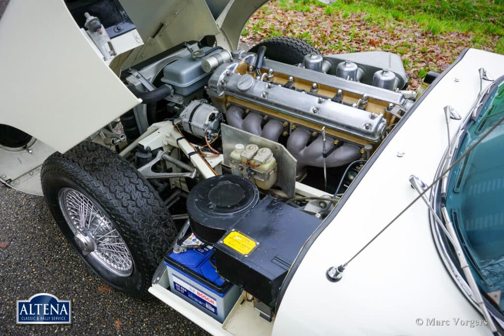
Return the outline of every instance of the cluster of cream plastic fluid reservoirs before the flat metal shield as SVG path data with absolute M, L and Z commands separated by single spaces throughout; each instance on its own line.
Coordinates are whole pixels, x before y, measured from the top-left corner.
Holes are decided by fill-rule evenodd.
M 236 144 L 229 155 L 234 175 L 251 179 L 259 188 L 268 190 L 277 180 L 277 160 L 269 148 L 254 144 Z

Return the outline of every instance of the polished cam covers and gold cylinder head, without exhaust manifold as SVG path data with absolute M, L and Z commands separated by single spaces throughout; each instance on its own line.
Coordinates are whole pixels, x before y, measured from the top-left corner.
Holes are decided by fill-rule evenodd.
M 348 81 L 309 69 L 266 59 L 261 78 L 256 76 L 255 54 L 224 63 L 209 80 L 207 93 L 223 111 L 231 106 L 244 114 L 226 113 L 228 123 L 260 135 L 264 120 L 273 118 L 283 126 L 280 135 L 296 127 L 328 135 L 356 145 L 379 143 L 386 127 L 396 120 L 392 106 L 405 102 L 401 93 Z M 259 116 L 255 115 L 258 114 Z M 240 121 L 239 118 L 242 118 Z M 278 128 L 278 127 L 275 127 Z M 278 131 L 266 132 L 277 141 Z

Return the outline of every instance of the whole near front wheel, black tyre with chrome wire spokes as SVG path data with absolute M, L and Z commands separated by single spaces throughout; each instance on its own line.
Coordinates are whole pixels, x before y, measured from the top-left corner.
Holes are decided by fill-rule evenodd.
M 127 160 L 92 142 L 49 156 L 44 198 L 62 234 L 112 288 L 142 298 L 176 227 L 163 200 Z

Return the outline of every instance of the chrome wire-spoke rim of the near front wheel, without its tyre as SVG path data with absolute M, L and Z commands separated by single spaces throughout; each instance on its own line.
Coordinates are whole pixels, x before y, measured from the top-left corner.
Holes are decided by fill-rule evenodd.
M 84 255 L 90 255 L 111 273 L 128 277 L 133 272 L 133 258 L 110 219 L 93 201 L 72 188 L 58 193 L 59 207 L 75 242 Z

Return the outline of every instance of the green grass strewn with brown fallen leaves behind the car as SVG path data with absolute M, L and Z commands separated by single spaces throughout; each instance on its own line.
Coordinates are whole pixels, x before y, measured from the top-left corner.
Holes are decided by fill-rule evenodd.
M 416 87 L 416 79 L 443 71 L 464 47 L 504 54 L 504 0 L 338 0 L 330 6 L 272 0 L 242 35 L 249 45 L 293 36 L 323 53 L 396 53 Z

